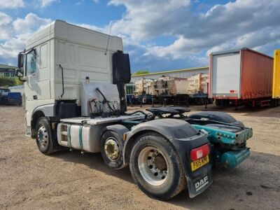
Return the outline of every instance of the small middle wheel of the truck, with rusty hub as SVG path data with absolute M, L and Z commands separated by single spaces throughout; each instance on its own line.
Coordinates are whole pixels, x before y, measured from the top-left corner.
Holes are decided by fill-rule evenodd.
M 101 139 L 101 154 L 104 162 L 111 168 L 123 166 L 123 139 L 119 134 L 107 130 Z

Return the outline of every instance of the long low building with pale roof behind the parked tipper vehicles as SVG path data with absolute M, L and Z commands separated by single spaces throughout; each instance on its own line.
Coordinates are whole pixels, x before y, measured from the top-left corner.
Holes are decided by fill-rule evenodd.
M 209 67 L 198 67 L 198 68 L 190 68 L 190 69 L 179 69 L 179 70 L 172 70 L 172 71 L 159 71 L 154 73 L 146 73 L 146 74 L 139 74 L 131 77 L 130 83 L 135 83 L 137 80 L 141 78 L 150 78 L 150 79 L 157 79 L 160 76 L 172 76 L 177 78 L 190 78 L 191 76 L 195 76 L 198 73 L 209 73 Z

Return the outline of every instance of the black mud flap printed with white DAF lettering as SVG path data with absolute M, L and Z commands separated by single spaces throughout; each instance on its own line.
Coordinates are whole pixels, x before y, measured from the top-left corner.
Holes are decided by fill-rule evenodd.
M 204 190 L 211 186 L 211 184 L 213 183 L 212 172 L 210 171 L 207 174 L 204 174 L 199 178 L 193 180 L 187 177 L 187 181 L 188 193 L 190 195 L 190 198 L 193 198 L 197 195 L 200 195 L 200 193 L 203 193 Z

